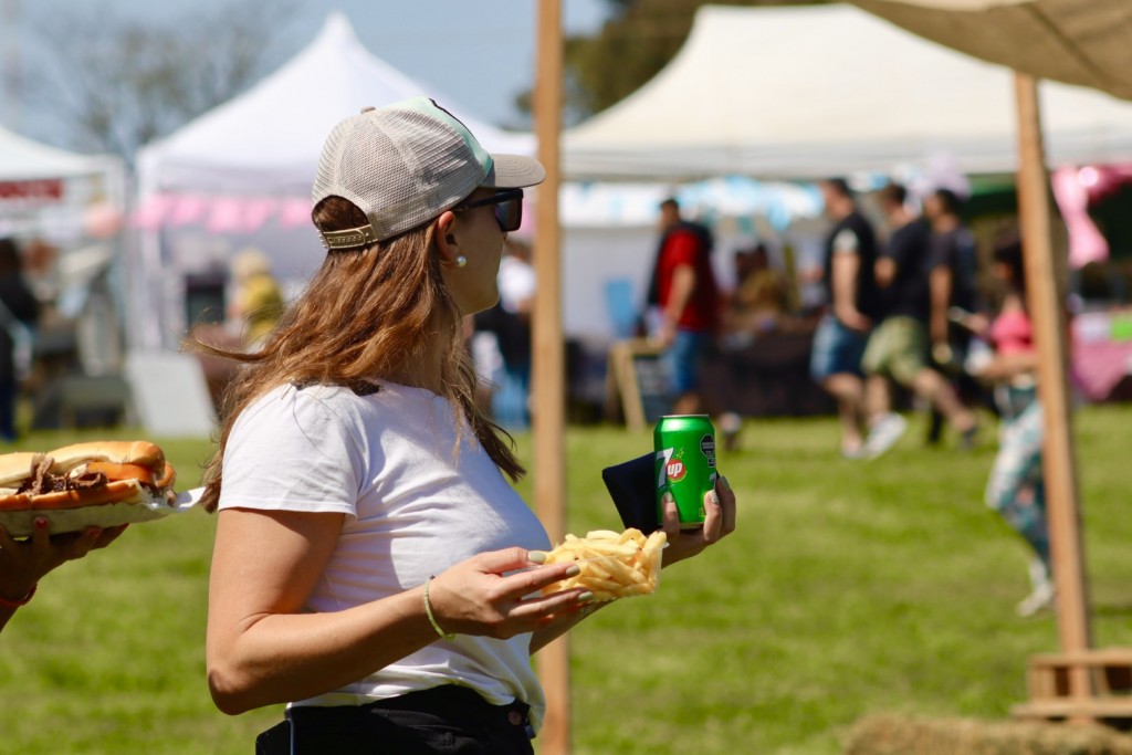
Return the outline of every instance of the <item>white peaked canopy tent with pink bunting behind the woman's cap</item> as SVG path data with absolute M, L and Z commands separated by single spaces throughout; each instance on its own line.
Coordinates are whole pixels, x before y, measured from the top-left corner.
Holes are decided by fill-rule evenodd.
M 175 346 L 187 325 L 186 274 L 223 274 L 232 247 L 260 247 L 285 282 L 306 280 L 321 260 L 309 197 L 326 136 L 365 106 L 421 95 L 455 113 L 490 152 L 533 154 L 532 135 L 468 117 L 367 51 L 338 12 L 255 87 L 143 148 L 131 345 Z

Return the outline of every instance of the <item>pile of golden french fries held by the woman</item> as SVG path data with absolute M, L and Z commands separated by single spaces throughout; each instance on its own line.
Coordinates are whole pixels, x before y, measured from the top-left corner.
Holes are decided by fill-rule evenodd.
M 649 595 L 657 591 L 667 540 L 661 530 L 646 538 L 634 527 L 625 532 L 594 530 L 585 538 L 567 534 L 547 554 L 546 563 L 574 561 L 581 573 L 547 585 L 542 593 L 582 587 L 592 592 L 595 601 Z

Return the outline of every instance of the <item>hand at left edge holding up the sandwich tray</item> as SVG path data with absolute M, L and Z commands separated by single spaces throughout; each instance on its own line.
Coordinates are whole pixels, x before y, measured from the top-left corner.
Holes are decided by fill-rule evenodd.
M 49 572 L 105 548 L 129 526 L 88 526 L 82 532 L 52 535 L 46 517 L 37 517 L 34 524 L 32 535 L 19 540 L 0 527 L 0 629 L 32 600 L 40 580 Z

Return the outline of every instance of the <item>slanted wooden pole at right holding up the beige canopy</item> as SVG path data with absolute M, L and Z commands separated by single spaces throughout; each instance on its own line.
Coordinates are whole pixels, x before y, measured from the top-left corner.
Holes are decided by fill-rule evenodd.
M 1073 653 L 1088 650 L 1092 636 L 1066 379 L 1065 260 L 1054 256 L 1050 241 L 1049 182 L 1041 143 L 1037 81 L 1032 76 L 1015 72 L 1014 89 L 1018 106 L 1018 205 L 1027 307 L 1038 350 L 1038 397 L 1045 428 L 1041 458 L 1049 546 L 1057 585 L 1057 629 L 1062 651 Z M 1070 670 L 1070 695 L 1088 697 L 1091 693 L 1088 669 L 1074 666 Z

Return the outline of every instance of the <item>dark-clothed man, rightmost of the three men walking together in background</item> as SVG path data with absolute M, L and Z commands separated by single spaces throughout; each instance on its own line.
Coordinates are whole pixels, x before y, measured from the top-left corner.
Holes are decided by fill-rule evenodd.
M 953 376 L 960 400 L 974 404 L 979 387 L 963 370 L 970 333 L 952 327 L 949 316 L 955 309 L 967 312 L 979 309 L 975 238 L 963 224 L 960 209 L 959 196 L 951 189 L 936 189 L 924 198 L 924 216 L 932 225 L 928 336 L 932 340 L 932 359 L 941 370 Z M 938 443 L 943 419 L 943 414 L 933 407 L 929 444 Z M 954 421 L 952 424 L 960 431 L 959 447 L 964 451 L 972 448 L 978 435 L 977 423 L 967 426 L 966 421 Z

